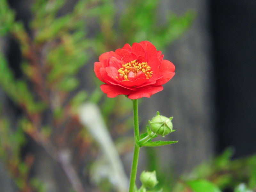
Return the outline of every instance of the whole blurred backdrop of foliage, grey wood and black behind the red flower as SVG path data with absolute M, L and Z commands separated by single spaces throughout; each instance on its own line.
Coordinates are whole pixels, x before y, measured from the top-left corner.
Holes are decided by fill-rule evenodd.
M 179 142 L 142 148 L 138 173 L 156 170 L 156 191 L 256 190 L 255 0 L 0 0 L 0 191 L 125 191 L 132 102 L 93 67 L 144 40 L 176 69 L 140 99 L 140 132 L 159 111 Z

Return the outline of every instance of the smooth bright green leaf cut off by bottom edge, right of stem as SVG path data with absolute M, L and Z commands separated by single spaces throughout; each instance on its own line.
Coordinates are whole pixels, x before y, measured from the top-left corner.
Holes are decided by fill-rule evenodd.
M 188 186 L 193 192 L 221 192 L 220 189 L 208 180 L 187 181 Z

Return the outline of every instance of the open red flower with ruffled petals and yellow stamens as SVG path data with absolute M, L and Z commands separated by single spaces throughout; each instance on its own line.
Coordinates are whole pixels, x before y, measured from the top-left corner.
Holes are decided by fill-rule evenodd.
M 100 55 L 94 63 L 94 72 L 100 81 L 101 90 L 108 97 L 127 95 L 130 99 L 150 97 L 162 91 L 163 86 L 174 76 L 174 65 L 163 60 L 164 55 L 148 41 L 125 44 L 115 52 Z

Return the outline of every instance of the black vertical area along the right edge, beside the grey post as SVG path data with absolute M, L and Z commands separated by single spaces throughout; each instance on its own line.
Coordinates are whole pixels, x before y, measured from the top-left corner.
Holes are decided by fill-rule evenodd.
M 217 152 L 256 152 L 256 1 L 214 0 L 210 31 L 215 82 Z

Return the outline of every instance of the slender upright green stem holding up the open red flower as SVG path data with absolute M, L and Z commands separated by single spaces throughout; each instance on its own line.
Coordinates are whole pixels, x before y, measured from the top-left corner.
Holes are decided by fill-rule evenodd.
M 134 121 L 134 152 L 132 160 L 132 170 L 130 175 L 130 185 L 129 192 L 134 191 L 137 166 L 139 160 L 140 147 L 138 146 L 138 141 L 140 140 L 140 131 L 139 131 L 139 116 L 138 116 L 138 99 L 132 100 L 133 102 L 133 121 Z

